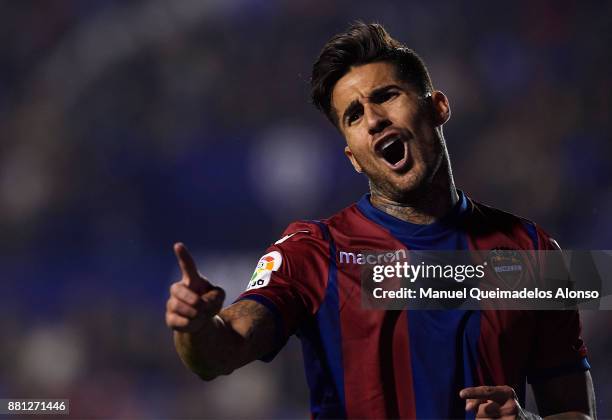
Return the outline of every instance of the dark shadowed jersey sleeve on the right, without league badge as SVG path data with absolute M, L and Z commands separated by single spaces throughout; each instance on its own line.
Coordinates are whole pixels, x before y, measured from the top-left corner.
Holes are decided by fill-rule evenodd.
M 539 227 L 536 232 L 540 250 L 560 250 L 546 232 Z M 527 372 L 530 383 L 590 369 L 577 310 L 535 311 L 535 316 L 537 333 Z

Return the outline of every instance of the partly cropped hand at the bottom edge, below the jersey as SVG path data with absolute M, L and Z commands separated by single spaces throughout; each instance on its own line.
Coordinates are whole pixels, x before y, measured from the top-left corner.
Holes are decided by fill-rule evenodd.
M 477 419 L 526 418 L 514 389 L 507 385 L 464 388 L 459 392 L 459 396 L 467 400 L 465 411 L 476 411 Z

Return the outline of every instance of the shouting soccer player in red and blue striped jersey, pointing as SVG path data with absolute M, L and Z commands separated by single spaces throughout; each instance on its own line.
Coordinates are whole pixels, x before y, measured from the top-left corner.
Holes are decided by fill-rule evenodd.
M 272 359 L 296 334 L 314 418 L 539 418 L 521 407 L 526 381 L 542 416 L 595 417 L 577 311 L 362 308 L 355 256 L 363 250 L 555 243 L 455 187 L 442 133 L 448 99 L 380 25 L 354 24 L 333 37 L 311 83 L 370 193 L 329 219 L 289 225 L 223 309 L 223 289 L 176 244 L 182 279 L 170 288 L 166 323 L 183 362 L 211 380 Z

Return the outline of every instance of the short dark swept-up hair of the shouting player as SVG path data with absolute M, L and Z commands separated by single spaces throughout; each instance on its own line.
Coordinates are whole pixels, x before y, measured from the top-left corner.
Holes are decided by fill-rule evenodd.
M 399 79 L 411 84 L 420 95 L 433 90 L 427 67 L 417 53 L 393 39 L 382 25 L 355 22 L 346 32 L 332 37 L 313 64 L 312 103 L 338 127 L 338 117 L 331 104 L 336 82 L 353 66 L 380 61 L 394 64 Z

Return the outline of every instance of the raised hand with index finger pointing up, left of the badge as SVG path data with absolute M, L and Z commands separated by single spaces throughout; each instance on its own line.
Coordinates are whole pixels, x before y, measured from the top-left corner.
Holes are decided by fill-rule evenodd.
M 182 278 L 170 286 L 170 298 L 166 303 L 166 325 L 175 331 L 194 333 L 221 310 L 225 291 L 210 284 L 198 272 L 185 245 L 174 244 L 174 253 Z

